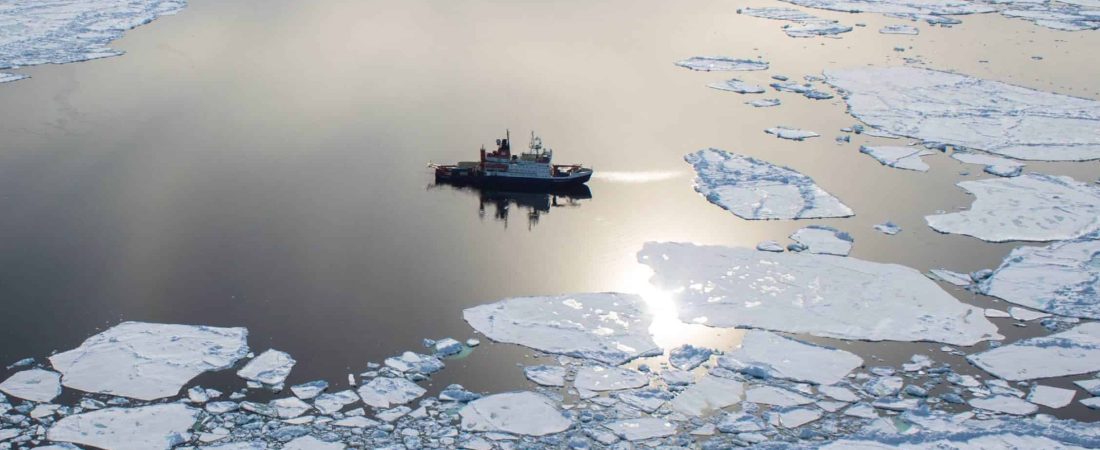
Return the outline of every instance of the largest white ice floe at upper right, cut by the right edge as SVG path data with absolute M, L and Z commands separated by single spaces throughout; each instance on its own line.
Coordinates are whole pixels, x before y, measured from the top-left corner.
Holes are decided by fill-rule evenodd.
M 825 70 L 871 127 L 1018 160 L 1100 158 L 1100 101 L 915 67 Z

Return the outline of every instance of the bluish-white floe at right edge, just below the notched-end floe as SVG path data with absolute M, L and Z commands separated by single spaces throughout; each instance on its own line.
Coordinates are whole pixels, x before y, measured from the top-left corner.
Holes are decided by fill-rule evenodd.
M 978 288 L 1016 305 L 1100 319 L 1100 232 L 1048 246 L 1014 249 Z

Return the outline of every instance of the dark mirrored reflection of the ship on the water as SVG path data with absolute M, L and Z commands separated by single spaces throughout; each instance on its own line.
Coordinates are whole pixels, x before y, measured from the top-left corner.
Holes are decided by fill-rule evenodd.
M 429 186 L 435 188 L 451 188 L 464 193 L 476 194 L 479 197 L 477 215 L 484 218 L 488 209 L 493 209 L 493 218 L 508 227 L 513 209 L 519 208 L 526 212 L 527 229 L 539 223 L 543 215 L 553 208 L 579 208 L 582 200 L 592 198 L 592 190 L 585 185 L 563 186 L 556 188 L 490 188 L 460 183 L 437 180 Z

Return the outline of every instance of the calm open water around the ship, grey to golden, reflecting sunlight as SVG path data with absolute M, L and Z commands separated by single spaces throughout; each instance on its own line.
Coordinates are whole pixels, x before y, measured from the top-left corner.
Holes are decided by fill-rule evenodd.
M 662 345 L 728 349 L 738 332 L 676 325 L 636 262 L 644 242 L 787 242 L 823 223 L 851 232 L 853 256 L 922 271 L 993 267 L 1013 244 L 924 226 L 925 215 L 969 205 L 954 183 L 985 177 L 980 167 L 935 155 L 925 174 L 886 168 L 859 144 L 900 141 L 833 142 L 855 123 L 839 99 L 772 92 L 781 107 L 752 109 L 743 105 L 752 97 L 707 83 L 915 57 L 1100 98 L 1100 65 L 1088 56 L 1098 33 L 983 15 L 883 36 L 881 25 L 902 21 L 814 11 L 867 26 L 795 40 L 783 22 L 738 15 L 745 6 L 778 3 L 193 0 L 116 42 L 122 57 L 22 70 L 33 78 L 0 85 L 0 362 L 73 348 L 121 320 L 243 326 L 255 350 L 298 360 L 289 382 L 341 382 L 422 338 L 472 337 L 463 308 L 593 290 L 647 295 L 662 315 L 653 328 Z M 759 56 L 772 69 L 672 65 L 712 54 Z M 790 142 L 762 131 L 779 124 L 823 136 Z M 594 166 L 591 193 L 432 186 L 427 163 L 475 157 L 505 129 L 517 143 L 535 129 L 561 162 Z M 691 188 L 682 156 L 707 146 L 792 166 L 857 216 L 738 219 Z M 1098 163 L 1028 168 L 1100 175 Z M 871 230 L 887 219 L 904 231 Z M 1012 339 L 1044 333 L 997 323 Z M 942 354 L 930 344 L 818 341 L 869 364 Z M 529 354 L 486 343 L 432 383 L 520 387 L 516 364 Z M 231 374 L 200 381 L 242 384 Z M 1098 418 L 1076 403 L 1057 414 Z

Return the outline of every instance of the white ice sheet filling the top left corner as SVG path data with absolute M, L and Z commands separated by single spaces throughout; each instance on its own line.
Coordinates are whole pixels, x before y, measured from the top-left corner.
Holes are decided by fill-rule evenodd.
M 0 6 L 0 69 L 65 64 L 122 52 L 108 47 L 127 30 L 174 14 L 185 0 L 38 0 Z M 0 83 L 24 78 L 0 73 Z

